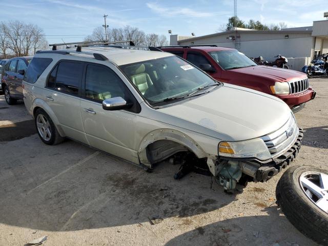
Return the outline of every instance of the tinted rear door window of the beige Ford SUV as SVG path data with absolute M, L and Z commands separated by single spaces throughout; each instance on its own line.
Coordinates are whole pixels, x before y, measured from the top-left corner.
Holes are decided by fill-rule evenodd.
M 84 64 L 77 61 L 60 61 L 48 78 L 48 87 L 59 92 L 78 95 Z

